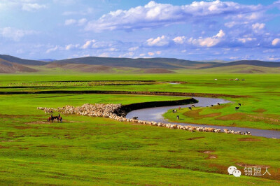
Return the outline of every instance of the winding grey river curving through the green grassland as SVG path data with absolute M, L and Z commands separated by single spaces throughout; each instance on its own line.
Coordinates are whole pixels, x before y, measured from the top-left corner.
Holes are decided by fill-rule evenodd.
M 194 97 L 199 102 L 195 103 L 195 106 L 206 107 L 211 105 L 216 105 L 217 103 L 230 103 L 230 101 L 225 99 L 217 99 L 217 98 L 206 98 L 206 97 Z M 127 113 L 127 118 L 132 118 L 137 116 L 139 120 L 145 121 L 154 121 L 154 122 L 164 122 L 164 123 L 172 123 L 172 124 L 181 124 L 181 125 L 191 125 L 197 127 L 213 127 L 216 129 L 230 129 L 234 131 L 250 131 L 252 136 L 262 136 L 266 138 L 280 138 L 280 131 L 274 130 L 262 130 L 262 129 L 251 129 L 244 127 L 226 127 L 226 126 L 218 126 L 218 125 L 207 125 L 207 124 L 188 124 L 188 123 L 179 123 L 179 122 L 169 122 L 162 115 L 167 112 L 167 110 L 174 108 L 186 108 L 190 105 L 181 105 L 181 106 L 162 106 L 155 108 L 144 108 L 139 110 L 132 110 L 130 113 Z M 233 134 L 232 134 L 233 135 Z

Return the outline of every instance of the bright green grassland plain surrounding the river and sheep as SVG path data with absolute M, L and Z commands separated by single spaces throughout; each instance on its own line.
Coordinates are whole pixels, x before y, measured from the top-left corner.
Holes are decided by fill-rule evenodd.
M 0 91 L 126 90 L 241 95 L 213 108 L 181 110 L 183 120 L 258 129 L 279 129 L 267 120 L 217 120 L 235 114 L 279 118 L 280 75 L 1 75 Z M 214 80 L 217 78 L 218 80 Z M 229 81 L 244 78 L 245 81 Z M 87 81 L 57 83 L 55 81 Z M 154 80 L 152 83 L 93 83 L 93 80 Z M 181 81 L 172 85 L 165 82 Z M 41 84 L 41 85 L 40 85 Z M 132 85 L 133 84 L 133 85 Z M 12 88 L 8 86 L 22 86 Z M 36 87 L 38 86 L 38 87 Z M 98 117 L 64 115 L 49 124 L 37 106 L 83 103 L 138 103 L 181 99 L 174 96 L 122 94 L 0 95 L 1 185 L 279 185 L 279 140 L 254 136 L 172 130 Z M 182 97 L 183 99 L 183 97 Z M 194 110 L 194 111 L 195 111 Z M 197 111 L 195 111 L 197 112 Z M 200 117 L 213 115 L 214 117 Z M 195 117 L 197 116 L 197 117 Z M 167 113 L 168 117 L 168 113 Z M 229 117 L 228 117 L 229 118 Z M 172 119 L 172 118 L 171 118 Z M 269 167 L 272 176 L 228 176 L 228 166 Z M 263 172 L 264 170 L 262 170 Z

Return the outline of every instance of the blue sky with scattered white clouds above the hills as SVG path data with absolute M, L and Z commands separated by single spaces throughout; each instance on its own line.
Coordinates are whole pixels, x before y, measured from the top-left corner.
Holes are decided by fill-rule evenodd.
M 0 0 L 0 54 L 280 62 L 280 0 Z

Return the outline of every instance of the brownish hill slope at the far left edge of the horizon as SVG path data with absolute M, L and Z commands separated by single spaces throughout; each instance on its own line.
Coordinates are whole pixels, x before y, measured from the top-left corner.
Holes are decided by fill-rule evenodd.
M 0 59 L 0 73 L 36 72 L 36 69 Z

